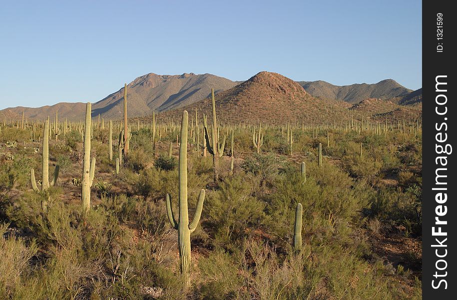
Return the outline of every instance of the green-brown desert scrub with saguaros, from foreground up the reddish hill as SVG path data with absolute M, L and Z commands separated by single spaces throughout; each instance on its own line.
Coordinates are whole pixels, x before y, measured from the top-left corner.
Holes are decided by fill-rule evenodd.
M 421 123 L 267 76 L 228 108 L 0 123 L 0 298 L 420 299 Z M 246 111 L 266 85 L 313 110 Z

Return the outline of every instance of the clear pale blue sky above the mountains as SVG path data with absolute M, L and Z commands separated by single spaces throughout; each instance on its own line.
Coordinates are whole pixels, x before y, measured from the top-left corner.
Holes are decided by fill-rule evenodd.
M 0 0 L 0 109 L 95 102 L 157 74 L 422 87 L 418 0 Z

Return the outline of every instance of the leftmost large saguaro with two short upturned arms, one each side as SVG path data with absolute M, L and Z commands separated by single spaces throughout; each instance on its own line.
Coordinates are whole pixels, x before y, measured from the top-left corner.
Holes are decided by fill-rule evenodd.
M 49 120 L 44 121 L 41 160 L 41 192 L 43 192 L 41 208 L 43 211 L 46 211 L 49 196 L 47 189 L 49 186 L 52 186 L 57 182 L 57 177 L 59 176 L 59 165 L 56 165 L 54 169 L 54 176 L 52 177 L 52 181 L 49 183 Z M 35 170 L 33 168 L 30 169 L 30 181 L 33 190 L 39 191 L 35 181 Z

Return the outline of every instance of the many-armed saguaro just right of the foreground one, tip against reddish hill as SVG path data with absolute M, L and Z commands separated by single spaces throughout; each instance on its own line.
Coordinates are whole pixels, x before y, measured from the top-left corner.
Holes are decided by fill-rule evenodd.
M 203 114 L 203 126 L 205 127 L 205 139 L 206 139 L 206 148 L 208 152 L 213 155 L 213 166 L 214 166 L 214 181 L 219 180 L 219 157 L 222 157 L 225 147 L 225 138 L 222 140 L 222 143 L 219 143 L 219 131 L 217 130 L 217 120 L 216 120 L 216 102 L 214 99 L 214 88 L 211 88 L 211 101 L 213 104 L 213 123 L 211 124 L 212 134 L 211 141 L 209 138 L 208 125 L 206 123 L 206 115 Z M 205 156 L 205 155 L 203 155 Z

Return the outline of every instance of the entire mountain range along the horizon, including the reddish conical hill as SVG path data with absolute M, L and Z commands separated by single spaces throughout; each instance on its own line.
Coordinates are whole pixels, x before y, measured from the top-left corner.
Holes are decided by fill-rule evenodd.
M 422 89 L 412 91 L 392 79 L 386 79 L 375 84 L 352 84 L 337 86 L 326 81 L 295 82 L 278 73 L 260 72 L 246 81 L 232 81 L 212 74 L 184 73 L 181 75 L 158 75 L 148 73 L 137 77 L 127 84 L 127 111 L 129 117 L 139 117 L 152 114 L 152 111 L 164 112 L 175 108 L 190 107 L 193 103 L 208 104 L 211 87 L 215 89 L 217 98 L 235 110 L 231 113 L 250 119 L 265 119 L 264 116 L 278 118 L 302 119 L 300 114 L 306 113 L 306 118 L 316 119 L 327 115 L 329 109 L 343 113 L 341 109 L 351 107 L 351 104 L 365 99 L 389 99 L 400 105 L 422 102 Z M 92 116 L 100 114 L 104 118 L 117 119 L 123 116 L 124 88 L 121 87 L 105 98 L 92 104 Z M 343 101 L 341 101 L 343 100 Z M 256 102 L 257 101 L 257 102 Z M 233 103 L 228 103 L 233 102 Z M 313 105 L 311 105 L 314 103 Z M 382 102 L 377 102 L 384 105 Z M 364 107 L 353 107 L 353 112 L 367 112 Z M 291 107 L 296 105 L 296 107 Z M 320 108 L 319 108 L 320 107 Z M 246 109 L 249 114 L 246 115 Z M 318 109 L 315 109 L 318 108 Z M 13 107 L 0 110 L 0 117 L 16 118 L 24 111 L 29 119 L 44 119 L 52 116 L 58 110 L 61 120 L 81 120 L 84 116 L 85 104 L 81 102 L 60 102 L 50 106 L 37 108 Z M 373 108 L 369 111 L 385 112 L 385 108 Z M 224 113 L 224 111 L 222 111 Z M 312 113 L 309 114 L 309 113 Z M 246 119 L 248 121 L 249 119 Z

